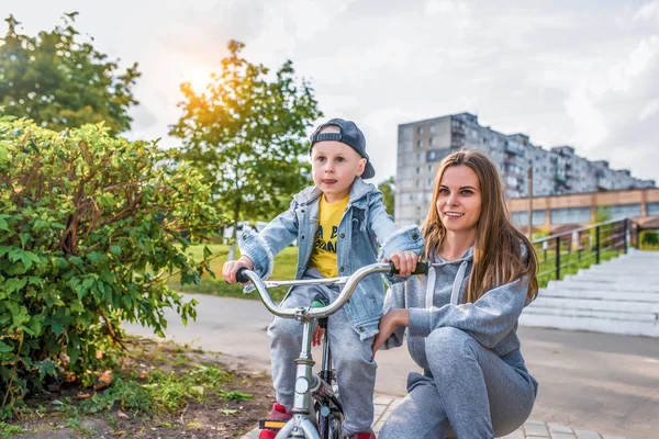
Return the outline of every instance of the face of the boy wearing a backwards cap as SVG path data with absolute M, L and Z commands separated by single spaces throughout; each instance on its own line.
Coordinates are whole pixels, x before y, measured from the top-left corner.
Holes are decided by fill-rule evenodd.
M 313 182 L 330 203 L 350 193 L 355 177 L 361 176 L 365 167 L 366 159 L 340 142 L 319 142 L 311 149 Z

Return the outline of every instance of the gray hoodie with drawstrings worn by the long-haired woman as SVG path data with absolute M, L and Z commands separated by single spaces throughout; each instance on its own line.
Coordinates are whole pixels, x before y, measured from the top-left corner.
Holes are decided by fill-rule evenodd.
M 384 349 L 401 346 L 406 333 L 412 359 L 429 373 L 426 336 L 439 327 L 454 327 L 469 334 L 524 374 L 537 392 L 537 381 L 526 370 L 516 334 L 517 318 L 528 304 L 527 282 L 517 279 L 488 291 L 474 303 L 465 303 L 472 266 L 473 247 L 455 261 L 436 256 L 428 275 L 413 275 L 406 282 L 393 285 L 384 299 L 384 313 L 409 308 L 410 327 L 407 330 L 399 327 L 386 341 Z

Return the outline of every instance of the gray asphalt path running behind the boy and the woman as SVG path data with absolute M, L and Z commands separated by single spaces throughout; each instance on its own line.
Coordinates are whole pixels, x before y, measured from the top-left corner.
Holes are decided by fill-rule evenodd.
M 183 327 L 168 314 L 169 337 L 230 353 L 252 370 L 269 369 L 265 328 L 271 317 L 260 302 L 194 297 L 197 322 Z M 659 339 L 524 327 L 518 334 L 527 367 L 540 383 L 532 419 L 612 437 L 659 438 Z M 320 359 L 320 351 L 313 354 Z M 416 370 L 406 349 L 380 351 L 377 361 L 378 394 L 403 396 L 406 374 Z

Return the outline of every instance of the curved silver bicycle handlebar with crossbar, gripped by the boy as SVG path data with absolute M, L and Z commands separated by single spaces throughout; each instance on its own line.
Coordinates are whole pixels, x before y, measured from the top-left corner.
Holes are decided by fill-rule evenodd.
M 390 273 L 398 274 L 398 270 L 393 267 L 393 262 L 389 263 L 371 263 L 370 266 L 366 266 L 355 271 L 348 278 L 333 278 L 333 279 L 310 279 L 310 280 L 299 280 L 299 281 L 288 281 L 286 283 L 281 282 L 277 286 L 282 286 L 286 284 L 287 286 L 294 285 L 303 285 L 303 284 L 320 284 L 320 283 L 344 283 L 340 294 L 334 302 L 328 304 L 327 306 L 317 307 L 317 308 L 303 308 L 303 314 L 308 317 L 322 318 L 326 317 L 331 314 L 336 313 L 345 303 L 350 299 L 353 292 L 357 284 L 367 275 L 375 273 Z M 428 264 L 425 262 L 417 262 L 416 269 L 412 272 L 412 274 L 427 274 Z M 260 295 L 261 302 L 266 305 L 266 308 L 278 317 L 284 318 L 294 318 L 301 312 L 300 308 L 283 308 L 281 306 L 275 305 L 272 302 L 272 297 L 268 293 L 268 288 L 266 282 L 264 282 L 257 273 L 246 268 L 241 268 L 236 272 L 236 280 L 241 283 L 252 282 L 254 286 L 256 286 L 256 291 Z M 310 304 L 311 305 L 311 304 Z

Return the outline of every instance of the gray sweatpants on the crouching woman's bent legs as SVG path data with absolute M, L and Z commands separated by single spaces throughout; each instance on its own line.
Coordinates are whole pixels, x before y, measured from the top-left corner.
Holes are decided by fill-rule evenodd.
M 380 439 L 494 438 L 528 418 L 534 385 L 467 333 L 435 329 L 425 350 L 431 370 L 410 374 Z

